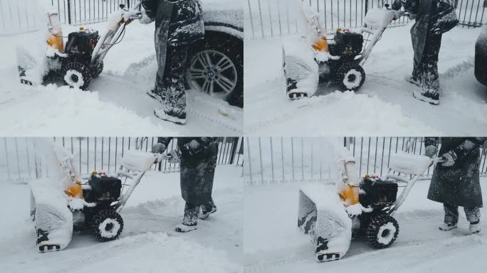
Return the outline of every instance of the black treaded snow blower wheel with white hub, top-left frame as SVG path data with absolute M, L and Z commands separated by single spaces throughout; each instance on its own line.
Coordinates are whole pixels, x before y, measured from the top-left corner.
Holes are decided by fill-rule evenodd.
M 90 85 L 91 70 L 83 63 L 77 61 L 67 61 L 63 64 L 61 77 L 66 85 L 69 85 L 70 87 L 78 87 L 81 90 L 86 90 L 88 85 Z

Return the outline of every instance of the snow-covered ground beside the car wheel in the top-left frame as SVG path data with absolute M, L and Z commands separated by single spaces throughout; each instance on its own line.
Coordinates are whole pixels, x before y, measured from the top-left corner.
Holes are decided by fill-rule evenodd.
M 105 23 L 88 27 L 101 30 Z M 67 36 L 75 29 L 63 26 L 63 33 Z M 0 36 L 0 127 L 4 136 L 226 136 L 243 132 L 241 108 L 196 90 L 187 94 L 186 125 L 154 116 L 154 109 L 161 105 L 145 94 L 152 89 L 157 71 L 153 23 L 135 21 L 127 26 L 125 38 L 108 53 L 105 70 L 92 80 L 89 92 L 19 83 L 16 45 L 36 44 L 41 33 Z

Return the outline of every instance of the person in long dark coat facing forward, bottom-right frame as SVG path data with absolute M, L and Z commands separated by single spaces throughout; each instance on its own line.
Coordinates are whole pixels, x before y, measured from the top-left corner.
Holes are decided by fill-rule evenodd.
M 483 137 L 442 137 L 438 153 L 439 138 L 425 139 L 426 156 L 433 157 L 438 153 L 441 157 L 441 162 L 434 168 L 428 191 L 429 200 L 444 206 L 445 218 L 440 230 L 456 228 L 461 206 L 470 223 L 470 232 L 480 232 L 483 203 L 478 169 L 480 148 L 485 141 Z

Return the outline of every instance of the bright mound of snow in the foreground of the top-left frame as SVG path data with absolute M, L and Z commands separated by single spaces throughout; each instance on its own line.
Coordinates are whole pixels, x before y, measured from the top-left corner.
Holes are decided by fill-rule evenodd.
M 127 128 L 134 126 L 137 126 L 137 130 L 131 132 L 136 135 L 140 132 L 175 134 L 162 124 L 152 123 L 149 117 L 139 117 L 132 110 L 118 107 L 112 102 L 100 101 L 98 92 L 56 85 L 26 86 L 17 92 L 20 92 L 17 95 L 18 103 L 4 105 L 0 109 L 2 117 L 16 117 L 1 119 L 0 124 L 6 136 L 50 137 L 53 132 L 64 132 L 66 136 L 127 135 Z M 100 122 L 100 118 L 103 118 L 103 122 Z

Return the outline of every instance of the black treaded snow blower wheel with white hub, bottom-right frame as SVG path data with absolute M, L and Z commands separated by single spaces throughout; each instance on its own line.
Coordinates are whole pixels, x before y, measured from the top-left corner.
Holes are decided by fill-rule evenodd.
M 372 216 L 367 228 L 365 228 L 367 242 L 377 249 L 392 245 L 398 234 L 399 224 L 397 220 L 387 214 Z

